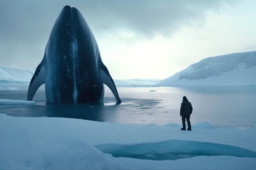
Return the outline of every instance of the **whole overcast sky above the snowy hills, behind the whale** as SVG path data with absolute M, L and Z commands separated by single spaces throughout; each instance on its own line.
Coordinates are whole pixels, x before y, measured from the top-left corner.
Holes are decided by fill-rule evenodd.
M 0 65 L 35 70 L 65 5 L 82 13 L 114 79 L 164 79 L 256 50 L 256 0 L 0 0 Z

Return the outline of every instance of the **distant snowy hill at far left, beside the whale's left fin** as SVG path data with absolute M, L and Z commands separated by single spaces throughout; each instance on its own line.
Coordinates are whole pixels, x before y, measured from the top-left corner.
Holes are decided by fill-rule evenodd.
M 33 75 L 32 70 L 0 65 L 1 85 L 29 85 Z

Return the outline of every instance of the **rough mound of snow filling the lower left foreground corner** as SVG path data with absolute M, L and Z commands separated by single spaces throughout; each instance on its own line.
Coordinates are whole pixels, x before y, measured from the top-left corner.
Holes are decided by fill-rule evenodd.
M 0 169 L 124 169 L 111 155 L 74 136 L 34 143 L 27 129 L 16 128 L 1 130 L 0 136 Z

